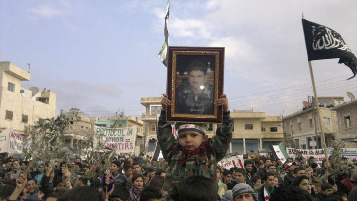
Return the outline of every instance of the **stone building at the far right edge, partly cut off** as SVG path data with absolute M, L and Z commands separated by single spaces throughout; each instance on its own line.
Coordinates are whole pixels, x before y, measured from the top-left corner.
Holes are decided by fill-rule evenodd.
M 338 133 L 346 147 L 357 147 L 357 99 L 345 102 L 331 110 L 336 111 Z

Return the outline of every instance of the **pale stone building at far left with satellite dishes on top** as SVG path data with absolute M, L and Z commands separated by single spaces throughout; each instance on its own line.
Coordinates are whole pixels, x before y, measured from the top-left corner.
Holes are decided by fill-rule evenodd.
M 30 73 L 11 62 L 0 62 L 0 132 L 11 128 L 24 134 L 24 126 L 56 115 L 56 94 L 36 87 L 25 89 Z

